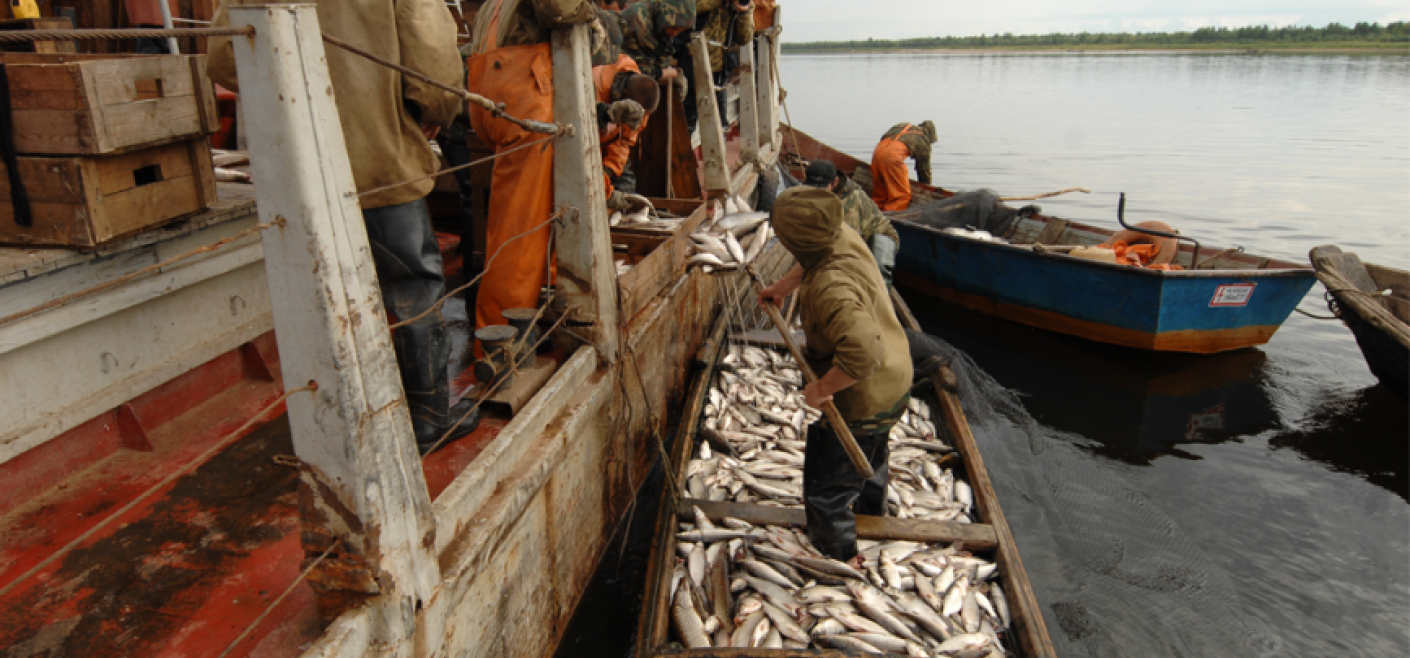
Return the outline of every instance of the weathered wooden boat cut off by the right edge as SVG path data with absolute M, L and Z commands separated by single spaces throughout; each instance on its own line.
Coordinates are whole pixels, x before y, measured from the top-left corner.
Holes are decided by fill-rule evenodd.
M 1363 263 L 1355 254 L 1344 254 L 1334 245 L 1317 247 L 1308 258 L 1331 296 L 1327 306 L 1356 337 L 1371 372 L 1406 397 L 1410 389 L 1410 272 Z

